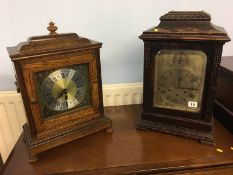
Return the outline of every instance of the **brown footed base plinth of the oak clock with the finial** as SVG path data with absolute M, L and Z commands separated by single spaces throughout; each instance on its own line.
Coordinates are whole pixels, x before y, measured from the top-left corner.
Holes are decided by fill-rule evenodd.
M 106 129 L 106 132 L 112 132 L 112 121 L 106 116 L 99 117 L 91 122 L 77 125 L 76 128 L 65 130 L 57 135 L 46 139 L 33 138 L 28 124 L 24 124 L 24 141 L 29 152 L 29 162 L 36 162 L 39 159 L 39 153 L 57 147 L 59 145 L 71 142 L 78 138 L 90 135 L 92 133 Z

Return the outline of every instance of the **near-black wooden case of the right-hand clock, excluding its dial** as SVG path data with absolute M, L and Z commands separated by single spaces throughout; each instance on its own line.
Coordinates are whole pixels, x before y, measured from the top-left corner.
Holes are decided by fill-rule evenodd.
M 203 11 L 171 11 L 160 17 L 156 27 L 143 32 L 143 111 L 137 128 L 155 130 L 214 145 L 213 104 L 222 48 L 230 41 L 223 28 L 213 25 Z M 155 55 L 162 49 L 199 50 L 207 55 L 200 112 L 153 107 Z

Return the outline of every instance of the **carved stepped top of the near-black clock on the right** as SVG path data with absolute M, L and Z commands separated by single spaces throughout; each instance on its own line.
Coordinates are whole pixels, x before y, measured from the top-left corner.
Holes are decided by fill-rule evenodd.
M 170 11 L 160 17 L 158 26 L 143 32 L 143 40 L 185 40 L 227 42 L 224 28 L 211 22 L 211 16 L 203 11 Z

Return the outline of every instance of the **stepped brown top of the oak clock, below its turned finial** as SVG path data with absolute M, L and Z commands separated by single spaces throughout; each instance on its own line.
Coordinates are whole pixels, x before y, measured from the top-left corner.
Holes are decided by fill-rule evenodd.
M 27 42 L 7 47 L 12 61 L 37 59 L 42 54 L 57 54 L 101 48 L 102 43 L 78 36 L 76 33 L 50 34 L 30 37 Z

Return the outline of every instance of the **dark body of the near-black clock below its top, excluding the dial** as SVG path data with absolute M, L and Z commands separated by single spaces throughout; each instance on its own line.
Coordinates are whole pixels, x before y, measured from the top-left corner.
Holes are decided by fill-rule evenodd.
M 214 144 L 212 130 L 212 101 L 215 94 L 216 78 L 223 43 L 144 40 L 144 46 L 143 111 L 138 128 L 143 130 L 159 130 L 175 135 L 194 138 L 211 145 Z M 206 76 L 202 94 L 202 107 L 199 113 L 190 114 L 184 111 L 153 107 L 152 94 L 154 94 L 155 71 L 154 56 L 161 49 L 201 50 L 207 55 Z M 209 89 L 209 91 L 206 91 L 206 89 Z

